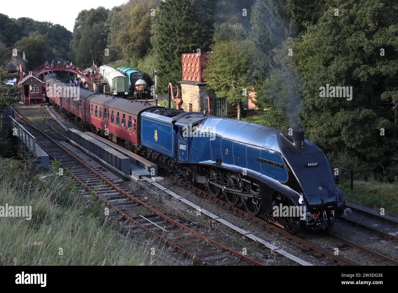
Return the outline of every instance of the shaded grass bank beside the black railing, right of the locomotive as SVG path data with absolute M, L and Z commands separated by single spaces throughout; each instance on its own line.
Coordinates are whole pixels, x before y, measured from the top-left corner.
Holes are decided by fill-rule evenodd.
M 350 183 L 339 183 L 345 199 L 351 203 L 367 206 L 376 212 L 384 208 L 385 214 L 398 217 L 398 185 L 377 181 L 354 181 L 353 190 Z

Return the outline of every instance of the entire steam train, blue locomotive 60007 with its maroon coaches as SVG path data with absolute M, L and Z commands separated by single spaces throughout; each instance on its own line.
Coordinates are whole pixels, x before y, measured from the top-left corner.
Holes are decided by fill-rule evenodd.
M 83 127 L 158 163 L 191 184 L 206 185 L 230 205 L 243 204 L 254 216 L 291 234 L 301 227 L 328 230 L 346 212 L 328 159 L 303 132 L 162 108 L 80 89 L 45 76 L 50 102 Z M 300 214 L 282 214 L 293 207 Z

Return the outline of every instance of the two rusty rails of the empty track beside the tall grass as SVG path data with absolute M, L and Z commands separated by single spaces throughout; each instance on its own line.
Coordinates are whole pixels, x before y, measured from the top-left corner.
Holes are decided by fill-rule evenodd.
M 112 183 L 111 181 L 109 181 L 107 178 L 103 177 L 100 173 L 98 173 L 97 171 L 95 171 L 94 169 L 92 169 L 91 167 L 89 167 L 88 165 L 86 165 L 84 162 L 82 162 L 80 159 L 78 159 L 77 157 L 75 157 L 72 153 L 70 153 L 68 150 L 66 150 L 64 147 L 62 147 L 60 144 L 58 144 L 57 142 L 55 142 L 52 138 L 50 138 L 47 134 L 45 134 L 43 131 L 41 131 L 39 128 L 36 128 L 33 124 L 31 124 L 30 122 L 28 122 L 25 118 L 23 118 L 23 116 L 21 116 L 18 112 L 16 112 L 16 110 L 14 110 L 14 112 L 22 119 L 25 121 L 25 124 L 30 125 L 32 128 L 34 128 L 35 130 L 39 131 L 43 136 L 45 136 L 48 140 L 50 140 L 50 142 L 52 142 L 53 144 L 55 144 L 55 146 L 59 147 L 60 149 L 62 149 L 62 151 L 64 151 L 65 153 L 67 153 L 70 157 L 72 157 L 73 159 L 75 159 L 76 161 L 78 161 L 78 163 L 80 163 L 82 166 L 84 166 L 86 169 L 88 169 L 90 172 L 94 173 L 94 175 L 96 175 L 97 177 L 100 177 L 100 179 L 102 179 L 104 182 L 106 182 L 108 185 L 110 185 L 111 187 L 113 187 L 114 189 L 116 189 L 117 191 L 119 191 L 120 193 L 122 193 L 123 195 L 129 197 L 130 199 L 132 199 L 133 201 L 137 202 L 138 204 L 140 204 L 141 206 L 144 206 L 145 208 L 147 208 L 148 210 L 150 210 L 151 212 L 153 212 L 154 214 L 157 214 L 158 216 L 164 218 L 165 220 L 167 220 L 168 222 L 173 223 L 174 225 L 177 225 L 185 230 L 188 230 L 189 232 L 191 232 L 192 234 L 195 234 L 196 236 L 198 236 L 199 238 L 203 238 L 206 241 L 209 241 L 217 246 L 219 246 L 220 248 L 227 250 L 228 252 L 234 254 L 235 256 L 238 256 L 241 260 L 245 260 L 248 263 L 254 264 L 254 265 L 263 265 L 259 262 L 257 262 L 256 260 L 253 260 L 251 258 L 249 258 L 248 256 L 245 256 L 243 254 L 240 254 L 239 252 L 236 252 L 235 250 L 232 250 L 231 248 L 228 248 L 226 246 L 224 246 L 223 244 L 220 244 L 219 242 L 187 227 L 184 226 L 183 224 L 177 222 L 176 220 L 166 216 L 165 214 L 163 214 L 162 212 L 159 212 L 158 210 L 152 208 L 149 205 L 146 205 L 144 202 L 140 201 L 139 199 L 137 199 L 136 197 L 134 197 L 133 195 L 130 195 L 129 193 L 127 193 L 126 191 L 124 191 L 123 189 L 121 189 L 120 187 L 118 187 L 117 185 L 115 185 L 114 183 Z M 38 143 L 39 144 L 39 143 Z M 40 145 L 40 144 L 39 144 Z M 43 147 L 43 149 L 45 149 L 45 147 Z M 49 155 L 51 157 L 53 157 L 53 155 L 51 155 L 49 153 Z M 54 157 L 53 157 L 54 158 Z M 55 158 L 54 158 L 55 159 Z M 62 165 L 62 163 L 60 163 Z M 63 166 L 63 165 L 62 165 Z M 68 169 L 68 168 L 65 168 Z M 73 174 L 72 174 L 73 175 Z M 202 264 L 207 264 L 207 265 L 211 265 L 208 262 L 205 262 L 204 260 L 201 260 L 200 258 L 198 258 L 197 256 L 195 256 L 195 254 L 192 254 L 191 252 L 188 252 L 187 250 L 184 250 L 183 248 L 179 247 L 178 245 L 174 244 L 173 242 L 171 242 L 170 240 L 167 240 L 166 238 L 164 238 L 163 236 L 157 234 L 156 232 L 150 230 L 149 228 L 141 225 L 138 221 L 135 221 L 133 218 L 131 218 L 129 215 L 127 215 L 125 212 L 123 212 L 122 210 L 120 210 L 119 208 L 117 208 L 116 206 L 112 205 L 111 203 L 109 203 L 108 201 L 106 201 L 105 199 L 103 199 L 100 195 L 98 195 L 94 190 L 92 190 L 90 187 L 88 187 L 85 183 L 83 183 L 80 179 L 78 179 L 78 177 L 76 177 L 75 175 L 73 175 L 73 177 L 75 179 L 78 180 L 78 182 L 80 182 L 80 184 L 82 184 L 84 186 L 85 189 L 88 189 L 92 192 L 95 193 L 95 195 L 104 201 L 104 203 L 106 203 L 107 205 L 112 206 L 113 208 L 115 208 L 120 214 L 122 214 L 123 216 L 125 216 L 126 218 L 128 218 L 129 220 L 135 222 L 138 226 L 144 228 L 145 230 L 155 234 L 156 236 L 158 236 L 160 239 L 164 240 L 167 244 L 170 244 L 170 246 L 175 247 L 176 249 L 178 249 L 179 251 L 190 255 L 194 260 L 201 262 Z

